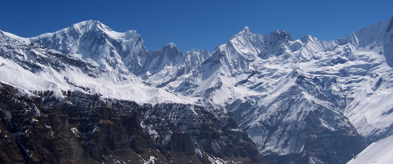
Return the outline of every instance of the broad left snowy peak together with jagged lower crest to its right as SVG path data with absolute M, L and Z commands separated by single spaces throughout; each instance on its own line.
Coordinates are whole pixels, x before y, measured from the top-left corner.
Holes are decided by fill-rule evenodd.
M 184 55 L 173 43 L 158 51 L 147 51 L 136 31 L 118 33 L 93 20 L 25 40 L 97 63 L 111 72 L 133 75 L 154 75 L 182 64 L 188 68 L 203 62 L 209 54 L 195 50 L 199 55 Z

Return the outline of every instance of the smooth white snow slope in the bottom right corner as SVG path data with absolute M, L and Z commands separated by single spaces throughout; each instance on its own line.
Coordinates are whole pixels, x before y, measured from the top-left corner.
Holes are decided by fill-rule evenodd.
M 393 136 L 372 143 L 347 164 L 393 163 Z

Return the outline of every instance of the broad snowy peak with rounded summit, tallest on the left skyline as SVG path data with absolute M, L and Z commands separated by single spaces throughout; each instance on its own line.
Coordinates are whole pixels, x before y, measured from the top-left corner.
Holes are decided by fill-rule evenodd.
M 127 73 L 125 66 L 145 49 L 136 31 L 118 33 L 92 20 L 28 39 L 64 54 L 92 60 L 101 68 L 117 73 Z

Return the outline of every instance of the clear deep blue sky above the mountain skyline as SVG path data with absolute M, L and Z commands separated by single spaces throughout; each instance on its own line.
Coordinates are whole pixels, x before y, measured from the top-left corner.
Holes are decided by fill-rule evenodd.
M 261 35 L 281 29 L 294 39 L 312 35 L 335 40 L 392 15 L 392 0 L 0 0 L 2 31 L 33 37 L 98 20 L 114 31 L 136 30 L 148 50 L 171 42 L 181 51 L 213 50 L 244 26 Z

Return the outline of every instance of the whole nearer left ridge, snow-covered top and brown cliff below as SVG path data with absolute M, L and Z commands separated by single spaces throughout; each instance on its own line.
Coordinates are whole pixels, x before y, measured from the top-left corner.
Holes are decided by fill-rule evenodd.
M 0 45 L 2 162 L 264 163 L 209 100 L 2 31 Z

